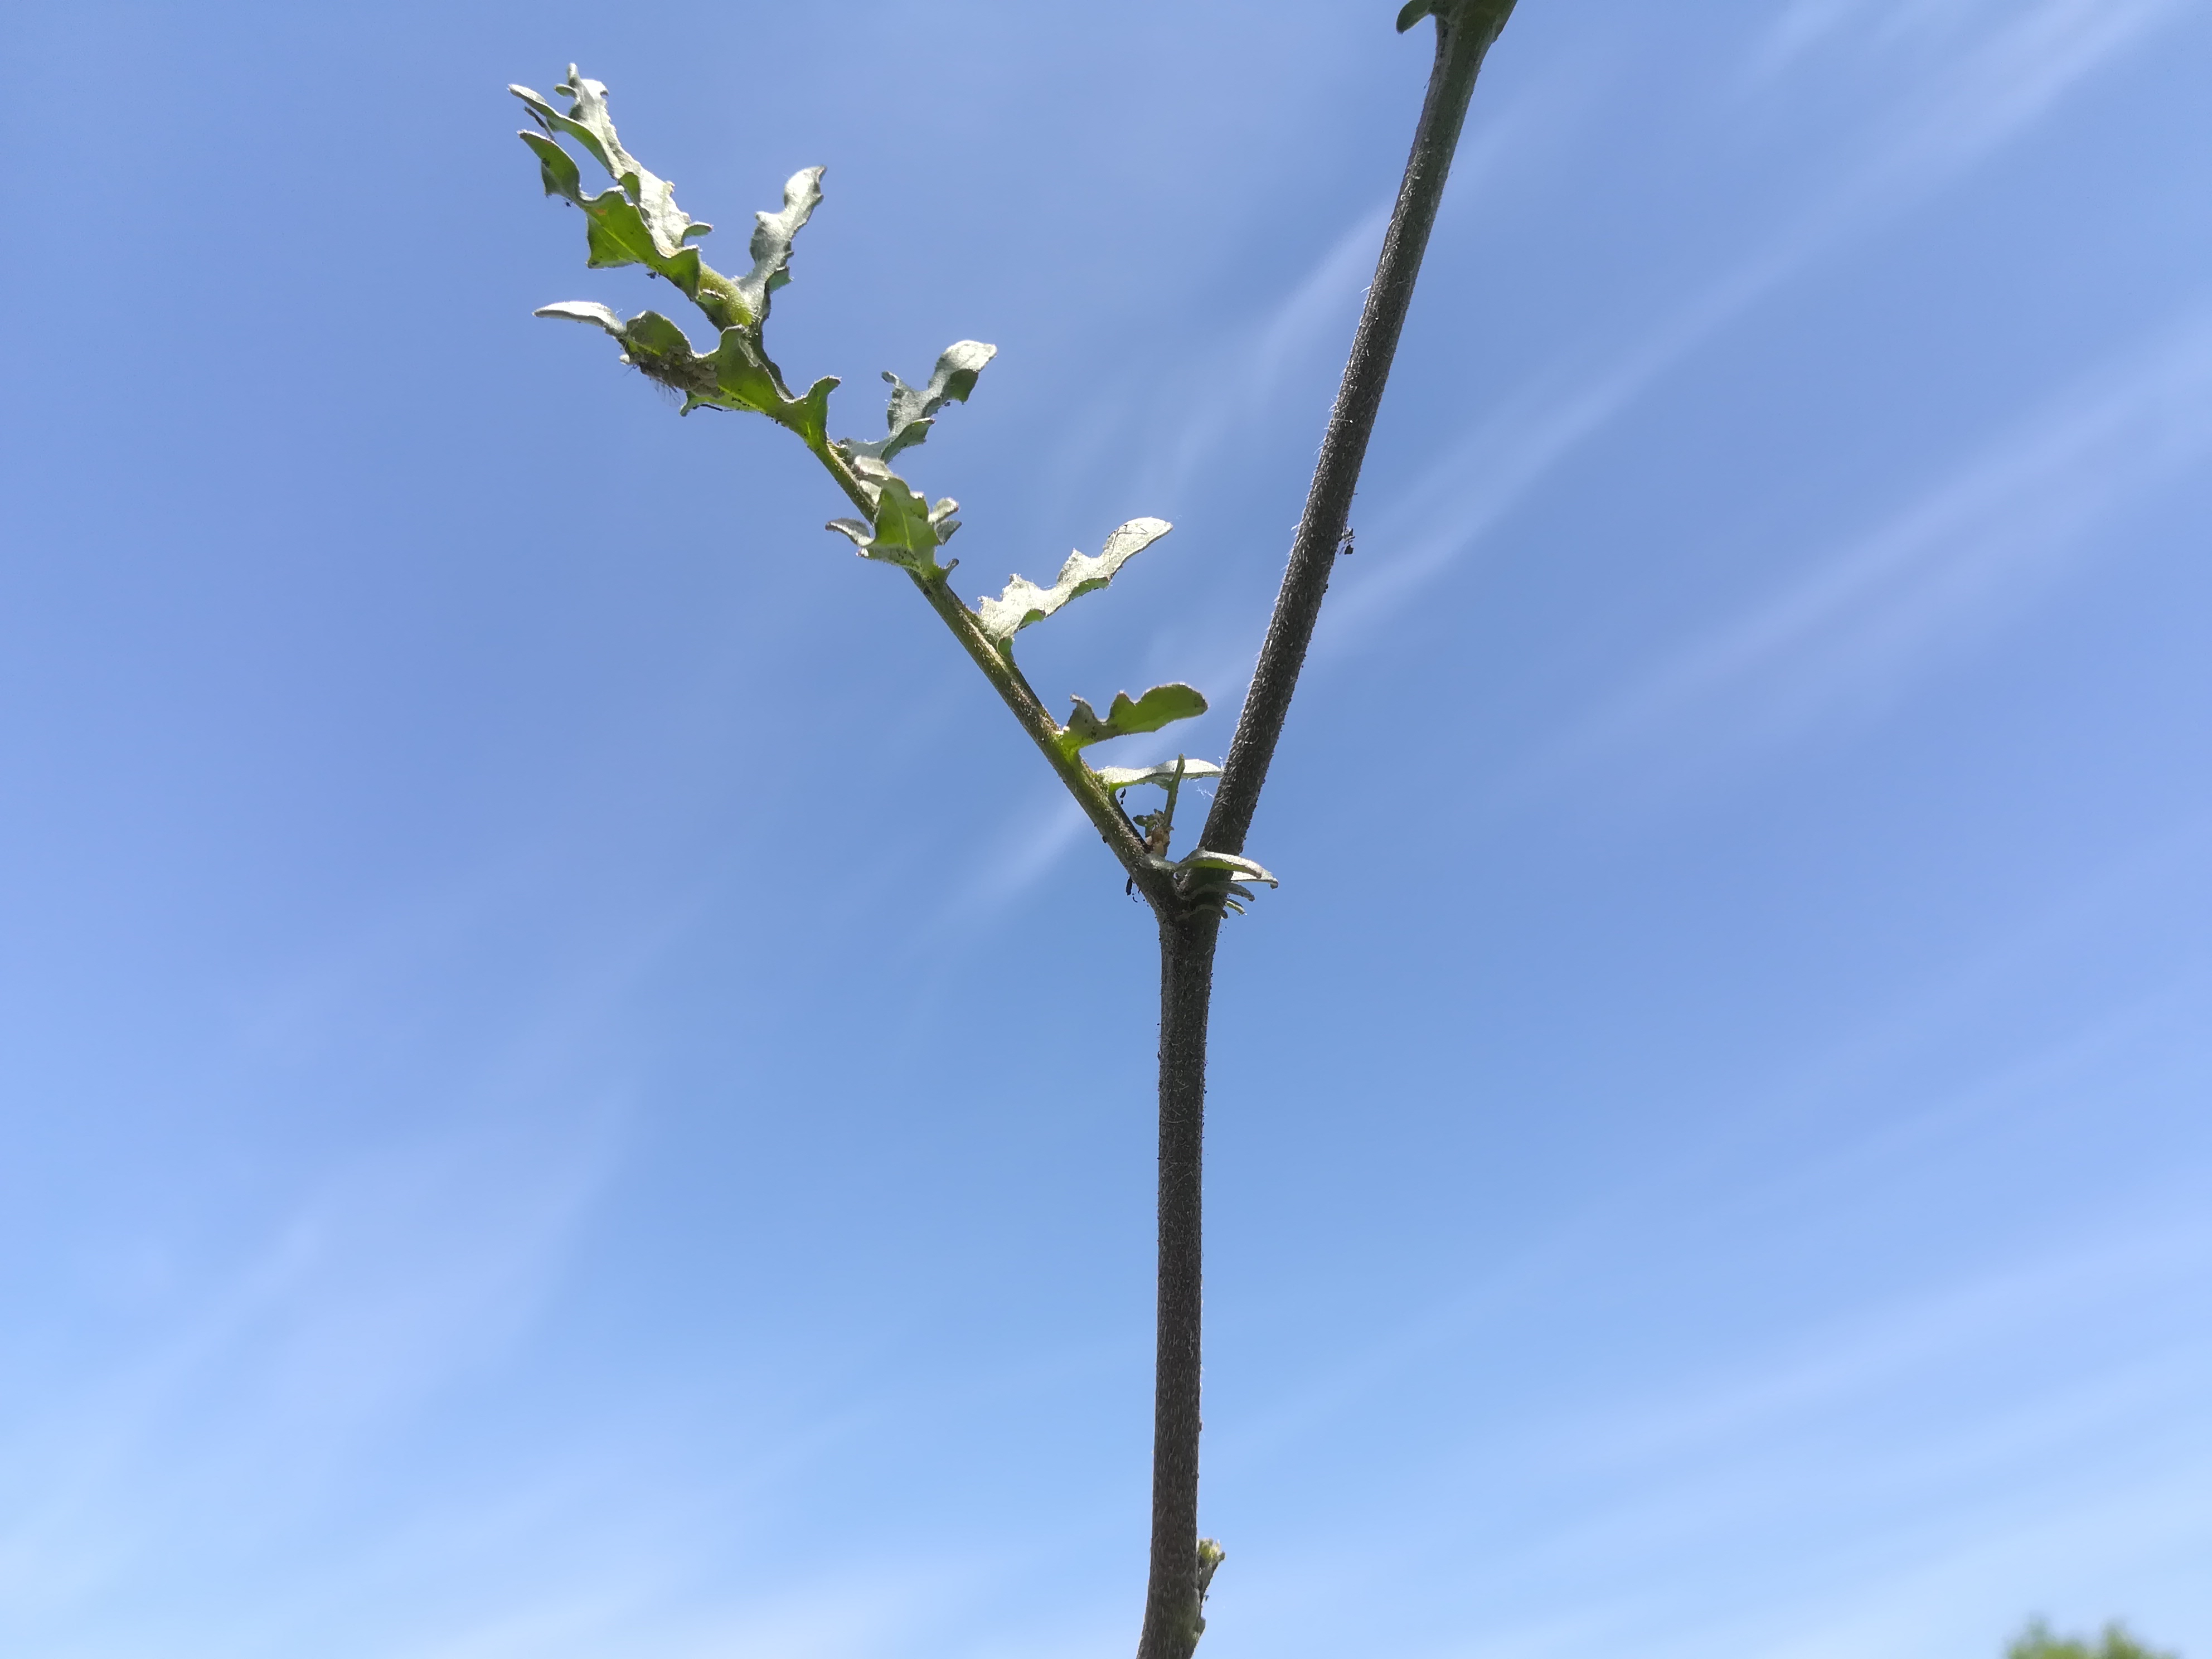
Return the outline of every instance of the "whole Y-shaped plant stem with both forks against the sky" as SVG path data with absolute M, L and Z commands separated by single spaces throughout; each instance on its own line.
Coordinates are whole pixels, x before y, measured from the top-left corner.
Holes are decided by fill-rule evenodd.
M 1383 407 L 1383 387 L 1389 380 L 1391 358 L 1398 352 L 1398 334 L 1405 327 L 1407 307 L 1413 299 L 1413 279 L 1420 274 L 1422 254 L 1429 248 L 1429 232 L 1436 226 L 1436 210 L 1444 195 L 1444 179 L 1451 173 L 1451 155 L 1460 142 L 1460 126 L 1467 119 L 1467 102 L 1475 88 L 1482 58 L 1515 0 L 1413 0 L 1400 13 L 1400 29 L 1409 22 L 1436 18 L 1436 69 L 1429 75 L 1429 93 L 1420 108 L 1420 124 L 1413 131 L 1413 153 L 1407 159 L 1405 184 L 1391 212 L 1389 232 L 1383 239 L 1383 259 L 1376 268 L 1374 288 L 1367 290 L 1367 305 L 1352 341 L 1352 358 L 1345 363 L 1345 378 L 1329 414 L 1329 427 L 1321 445 L 1321 462 L 1305 498 L 1305 513 L 1290 546 L 1290 568 L 1276 595 L 1274 615 L 1267 624 L 1267 641 L 1261 648 L 1252 688 L 1245 697 L 1243 714 L 1237 721 L 1237 737 L 1221 772 L 1212 812 L 1199 847 L 1214 854 L 1208 863 L 1186 863 L 1181 869 L 1166 867 L 1166 847 L 1146 845 L 1119 799 L 1106 783 L 1084 765 L 1071 732 L 1051 717 L 1044 701 L 1013 661 L 1011 648 L 984 630 L 982 619 L 951 591 L 947 571 L 938 568 L 933 555 L 907 564 L 907 573 L 920 588 L 922 599 L 951 628 L 953 639 L 1013 710 L 1015 721 L 1044 754 L 1046 763 L 1066 785 L 1068 794 L 1091 818 L 1099 838 L 1113 849 L 1128 872 L 1130 883 L 1144 891 L 1159 922 L 1159 1323 L 1157 1323 L 1157 1378 L 1152 1416 L 1152 1548 L 1150 1582 L 1144 1604 L 1144 1632 L 1137 1641 L 1137 1659 L 1190 1659 L 1206 1628 L 1201 1608 L 1212 1568 L 1221 1551 L 1199 1540 L 1199 1314 L 1201 1314 L 1201 1175 L 1206 1146 L 1206 1024 L 1212 1002 L 1214 949 L 1221 933 L 1221 911 L 1232 896 L 1245 889 L 1234 880 L 1270 880 L 1256 865 L 1239 863 L 1252 814 L 1259 807 L 1259 792 L 1267 781 L 1276 743 L 1283 737 L 1283 721 L 1290 714 L 1290 699 L 1305 664 L 1307 646 L 1314 639 L 1314 624 L 1321 617 L 1321 597 L 1329 584 L 1329 566 L 1345 542 L 1345 524 L 1352 513 L 1352 495 L 1358 489 L 1360 462 L 1367 458 L 1367 442 L 1374 434 L 1376 414 Z M 604 111 L 604 86 L 584 82 L 571 66 L 577 111 L 586 97 L 597 100 L 586 113 L 604 131 L 593 131 L 591 146 L 606 159 L 608 148 L 615 164 L 630 166 L 619 153 L 613 124 Z M 571 91 L 571 88 L 557 88 Z M 586 137 L 586 128 L 575 117 L 555 115 L 544 100 L 529 88 L 515 88 L 533 111 L 533 119 L 551 135 L 557 131 Z M 816 173 L 794 175 L 785 186 L 785 221 L 761 215 L 761 232 L 752 243 L 754 274 L 745 285 L 730 281 L 708 265 L 697 268 L 697 281 L 684 274 L 675 254 L 666 246 L 661 226 L 653 230 L 655 243 L 646 250 L 635 237 L 646 234 L 644 219 L 630 212 L 628 230 L 608 230 L 599 221 L 608 212 L 608 197 L 586 201 L 575 181 L 575 166 L 564 153 L 524 133 L 531 148 L 540 153 L 549 192 L 566 195 L 580 208 L 595 212 L 593 237 L 613 237 L 611 246 L 628 248 L 617 259 L 604 261 L 599 241 L 593 243 L 593 263 L 648 263 L 659 274 L 681 279 L 690 299 L 723 332 L 723 352 L 737 352 L 741 387 L 721 398 L 719 407 L 750 407 L 770 414 L 781 425 L 799 431 L 807 449 L 827 469 L 845 498 L 860 509 L 869 524 L 878 524 L 878 504 L 898 502 L 898 511 L 911 511 L 907 495 L 883 498 L 863 480 L 847 456 L 830 442 L 823 429 L 827 387 L 834 380 L 816 383 L 805 400 L 792 398 L 781 372 L 759 352 L 759 323 L 768 314 L 765 292 L 781 281 L 781 261 L 790 250 L 790 234 L 805 221 L 810 204 L 818 199 L 814 190 Z M 611 164 L 613 166 L 613 164 Z M 626 177 L 630 206 L 641 201 L 644 186 L 637 177 Z M 812 192 L 801 197 L 801 186 Z M 653 181 L 666 192 L 666 184 Z M 672 201 L 657 199 L 653 212 L 672 212 Z M 666 217 L 666 215 L 664 215 Z M 681 215 L 677 215 L 681 221 Z M 655 221 L 659 223 L 659 221 Z M 688 223 L 688 221 L 684 221 Z M 781 226 L 781 230 L 779 230 Z M 622 234 L 630 234 L 622 243 Z M 690 234 L 690 232 L 684 232 Z M 781 243 L 774 239 L 781 234 Z M 763 243 L 759 237 L 770 237 Z M 783 252 L 779 252 L 779 248 Z M 765 261 L 765 263 L 763 263 Z M 770 270 L 770 265 L 774 270 Z M 763 276 L 763 272 L 768 272 Z M 765 283 L 765 285 L 763 285 Z M 748 303 L 748 294 L 752 303 Z M 754 316 L 759 310 L 759 316 Z M 624 338 L 630 347 L 626 361 L 637 363 L 646 374 L 661 378 L 677 389 L 706 398 L 701 387 L 719 385 L 719 369 L 688 347 L 655 343 L 635 334 L 633 325 L 622 325 L 604 305 L 555 305 L 546 314 L 597 321 Z M 655 314 L 648 314 L 655 316 Z M 666 319 L 655 319 L 655 327 L 668 330 Z M 734 345 L 730 330 L 748 330 Z M 989 356 L 989 347 L 984 347 Z M 719 354 L 717 354 L 719 361 Z M 759 387 L 765 374 L 770 389 Z M 703 380 L 699 376 L 706 376 Z M 745 378 L 750 376 L 750 378 Z M 969 372 L 973 383 L 973 372 Z M 911 396 L 911 394 L 909 394 Z M 936 392 L 931 394 L 936 396 Z M 962 396 L 964 392 L 951 394 Z M 686 405 L 690 407 L 690 405 Z M 936 407 L 933 403 L 929 407 Z M 894 405 L 896 409 L 896 405 Z M 898 480 L 894 480 L 898 482 Z M 898 484 L 905 489 L 905 484 Z M 931 520 L 933 524 L 936 520 Z M 880 526 L 878 526 L 880 529 Z M 1126 526 L 1133 529 L 1133 526 Z M 911 551 L 911 542 L 891 542 Z M 1126 557 L 1126 553 L 1124 553 Z M 1177 768 L 1175 781 L 1181 781 Z M 1157 827 L 1164 827 L 1175 812 L 1175 785 L 1168 790 L 1168 807 Z M 1166 834 L 1159 836 L 1166 841 Z M 1223 858 L 1223 854 L 1228 858 Z

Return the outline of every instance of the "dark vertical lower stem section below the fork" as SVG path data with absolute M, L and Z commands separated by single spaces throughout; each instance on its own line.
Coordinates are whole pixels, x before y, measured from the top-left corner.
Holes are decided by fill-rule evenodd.
M 1199 1617 L 1199 1256 L 1206 1013 L 1221 911 L 1159 918 L 1159 1347 L 1152 1394 L 1152 1573 L 1137 1659 L 1190 1659 Z

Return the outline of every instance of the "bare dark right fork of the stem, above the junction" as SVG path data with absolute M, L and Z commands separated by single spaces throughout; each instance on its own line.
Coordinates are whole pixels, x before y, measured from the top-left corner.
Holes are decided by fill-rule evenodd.
M 1221 787 L 1214 792 L 1214 807 L 1206 818 L 1203 843 L 1208 847 L 1241 854 L 1245 834 L 1252 830 L 1259 792 L 1267 783 L 1267 765 L 1283 737 L 1290 697 L 1298 688 L 1298 670 L 1305 666 L 1305 650 L 1321 617 L 1321 595 L 1329 586 L 1329 566 L 1336 562 L 1336 549 L 1343 544 L 1345 524 L 1352 518 L 1352 493 L 1360 482 L 1360 462 L 1367 460 L 1367 440 L 1383 407 L 1383 385 L 1389 380 L 1398 334 L 1413 301 L 1413 279 L 1420 274 L 1420 259 L 1429 250 L 1429 232 L 1436 228 L 1436 210 L 1444 199 L 1444 179 L 1451 173 L 1451 153 L 1460 144 L 1467 100 L 1475 91 L 1482 58 L 1498 40 L 1511 11 L 1513 0 L 1504 0 L 1504 4 L 1460 0 L 1436 7 L 1436 69 L 1429 73 L 1429 95 L 1420 106 L 1420 124 L 1413 128 L 1413 153 L 1405 164 L 1405 184 L 1398 188 L 1398 206 L 1391 210 L 1389 232 L 1383 237 L 1376 281 L 1367 290 L 1367 307 L 1360 312 L 1360 327 L 1352 338 L 1352 358 L 1345 363 L 1336 407 L 1329 411 L 1329 429 L 1321 440 L 1321 465 L 1314 469 L 1305 513 L 1298 518 L 1298 533 L 1290 544 L 1290 568 L 1283 573 L 1274 617 L 1267 622 L 1267 641 L 1261 646 L 1252 690 L 1237 719 L 1237 737 L 1221 770 Z

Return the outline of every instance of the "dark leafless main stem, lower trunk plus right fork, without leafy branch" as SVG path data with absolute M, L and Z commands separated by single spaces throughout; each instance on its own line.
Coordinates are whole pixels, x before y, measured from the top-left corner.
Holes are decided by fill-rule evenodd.
M 1413 153 L 1405 164 L 1405 184 L 1383 237 L 1383 259 L 1329 414 L 1321 465 L 1292 540 L 1290 568 L 1267 622 L 1267 641 L 1199 843 L 1214 852 L 1241 854 L 1252 827 L 1321 617 L 1329 566 L 1352 518 L 1360 462 L 1367 460 L 1367 440 L 1413 301 L 1413 279 L 1444 199 L 1444 177 L 1460 144 L 1467 102 L 1482 58 L 1511 11 L 1513 0 L 1447 0 L 1436 9 L 1436 69 L 1413 128 Z M 1159 914 L 1159 1347 L 1152 1396 L 1152 1566 L 1137 1659 L 1190 1659 L 1206 1628 L 1201 1606 L 1212 1575 L 1210 1559 L 1199 1553 L 1199 1201 L 1206 1015 L 1221 911 L 1197 894 L 1148 896 Z

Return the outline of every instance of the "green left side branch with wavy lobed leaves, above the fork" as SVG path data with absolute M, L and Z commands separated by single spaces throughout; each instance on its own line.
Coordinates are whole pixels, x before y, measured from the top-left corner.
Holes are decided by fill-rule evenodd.
M 675 184 L 648 170 L 622 146 L 604 82 L 586 80 L 571 64 L 568 80 L 553 88 L 568 102 L 566 111 L 529 86 L 507 91 L 522 100 L 533 122 L 520 137 L 538 157 L 546 195 L 582 210 L 586 219 L 584 263 L 644 265 L 648 274 L 666 279 L 714 327 L 714 343 L 701 352 L 684 327 L 661 312 L 648 310 L 624 319 L 597 301 L 544 305 L 538 316 L 591 323 L 611 334 L 622 345 L 624 363 L 684 396 L 681 414 L 692 409 L 761 414 L 799 434 L 863 513 L 863 518 L 832 520 L 830 529 L 849 538 L 860 557 L 900 566 L 925 591 L 949 591 L 947 577 L 958 560 L 940 562 L 938 551 L 960 529 L 960 520 L 953 518 L 958 502 L 942 498 L 931 504 L 891 471 L 891 460 L 927 442 L 945 405 L 967 403 L 998 347 L 953 341 L 920 387 L 909 387 L 885 372 L 883 378 L 891 385 L 885 434 L 865 440 L 830 438 L 830 394 L 838 387 L 836 376 L 823 376 L 794 394 L 765 343 L 770 303 L 792 279 L 792 243 L 823 199 L 823 168 L 794 173 L 783 184 L 783 206 L 754 215 L 748 248 L 752 263 L 726 276 L 699 257 L 699 239 L 712 226 L 684 212 L 677 206 Z M 586 192 L 584 170 L 568 144 L 608 175 L 608 188 Z M 1082 750 L 1093 743 L 1157 732 L 1172 721 L 1203 714 L 1206 697 L 1181 684 L 1152 686 L 1141 697 L 1117 692 L 1104 714 L 1077 697 L 1066 723 L 1060 723 L 1042 712 L 1042 701 L 1013 661 L 1013 639 L 1022 628 L 1044 622 L 1071 599 L 1104 588 L 1128 560 L 1168 529 L 1170 524 L 1159 518 L 1133 518 L 1106 538 L 1097 555 L 1071 553 L 1048 588 L 1015 575 L 998 597 L 980 599 L 973 611 L 958 602 L 940 611 L 1015 714 L 1033 728 L 1031 734 L 1046 748 L 1077 801 L 1093 816 L 1106 814 L 1108 823 L 1126 825 L 1117 854 L 1130 867 L 1133 880 L 1164 876 L 1186 894 L 1237 909 L 1234 896 L 1250 898 L 1239 880 L 1274 885 L 1274 876 L 1248 858 L 1206 849 L 1172 863 L 1166 858 L 1179 785 L 1186 779 L 1214 776 L 1221 768 L 1183 757 L 1150 768 L 1091 768 L 1082 761 Z M 1168 805 L 1130 818 L 1121 812 L 1119 796 L 1137 785 L 1164 787 Z M 1113 843 L 1115 836 L 1108 836 L 1108 845 Z M 1146 891 L 1155 889 L 1148 885 Z

